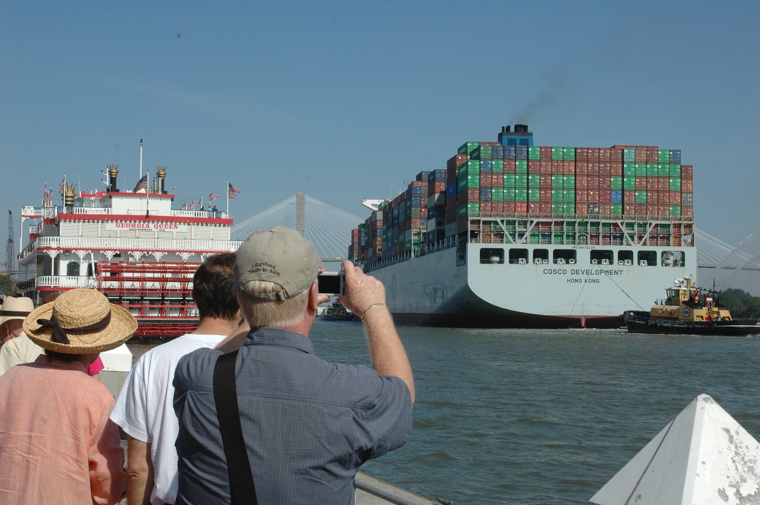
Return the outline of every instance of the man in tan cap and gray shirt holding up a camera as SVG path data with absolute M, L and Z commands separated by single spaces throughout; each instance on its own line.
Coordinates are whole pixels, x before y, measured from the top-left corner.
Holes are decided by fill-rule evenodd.
M 317 305 L 328 301 L 318 294 L 320 270 L 314 245 L 293 229 L 255 232 L 238 249 L 236 294 L 252 330 L 236 357 L 219 360 L 231 380 L 215 373 L 217 349 L 199 349 L 177 365 L 175 503 L 231 503 L 235 496 L 233 503 L 353 504 L 362 463 L 406 443 L 414 381 L 385 288 L 344 262 L 346 295 L 338 301 L 361 315 L 372 368 L 328 363 L 309 340 Z M 228 398 L 237 405 L 217 409 Z M 228 443 L 234 430 L 220 431 L 220 412 L 239 418 L 239 445 Z M 242 450 L 234 454 L 236 448 Z M 251 478 L 252 485 L 242 482 Z M 236 492 L 241 482 L 255 497 Z

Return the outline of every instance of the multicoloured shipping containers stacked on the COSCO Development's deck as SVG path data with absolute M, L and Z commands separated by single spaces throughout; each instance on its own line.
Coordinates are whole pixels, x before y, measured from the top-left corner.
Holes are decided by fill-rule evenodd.
M 445 170 L 420 172 L 354 230 L 350 256 L 374 261 L 417 250 L 467 231 L 477 216 L 692 219 L 693 169 L 680 163 L 680 150 L 655 146 L 468 141 Z

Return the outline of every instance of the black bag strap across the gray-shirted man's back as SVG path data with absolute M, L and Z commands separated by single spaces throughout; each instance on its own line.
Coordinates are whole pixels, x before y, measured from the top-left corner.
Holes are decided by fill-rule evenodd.
M 245 450 L 245 440 L 240 426 L 240 410 L 235 385 L 235 360 L 237 351 L 217 358 L 214 365 L 214 403 L 217 406 L 219 430 L 222 432 L 227 471 L 230 472 L 230 494 L 233 505 L 252 503 L 258 505 L 253 484 L 251 462 Z

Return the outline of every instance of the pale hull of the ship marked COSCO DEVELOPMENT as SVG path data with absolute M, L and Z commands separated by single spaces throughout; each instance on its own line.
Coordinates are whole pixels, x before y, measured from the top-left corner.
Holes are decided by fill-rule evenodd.
M 490 263 L 480 251 L 548 249 L 551 245 L 467 244 L 371 269 L 386 286 L 397 324 L 446 327 L 616 328 L 632 300 L 651 305 L 660 286 L 686 274 L 687 266 L 592 264 L 589 251 L 635 251 L 631 246 L 572 246 L 572 264 Z M 673 248 L 647 247 L 658 257 Z M 691 248 L 693 250 L 693 248 Z M 464 252 L 464 257 L 462 253 Z M 694 257 L 691 258 L 695 262 Z M 694 267 L 692 267 L 693 270 Z

